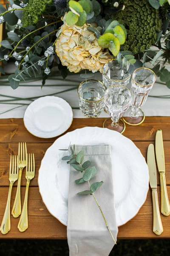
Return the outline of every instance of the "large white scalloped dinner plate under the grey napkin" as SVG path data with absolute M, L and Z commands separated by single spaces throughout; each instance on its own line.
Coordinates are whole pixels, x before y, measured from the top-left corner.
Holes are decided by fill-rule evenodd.
M 110 145 L 113 186 L 118 226 L 133 218 L 144 204 L 149 188 L 147 163 L 136 145 L 122 134 L 107 128 L 85 127 L 57 139 L 42 159 L 38 184 L 49 212 L 62 224 L 68 219 L 69 165 L 61 158 L 75 145 Z

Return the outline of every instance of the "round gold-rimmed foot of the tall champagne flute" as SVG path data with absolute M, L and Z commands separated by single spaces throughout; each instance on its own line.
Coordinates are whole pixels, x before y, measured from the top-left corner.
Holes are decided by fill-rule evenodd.
M 139 116 L 137 117 L 132 117 L 131 113 L 132 113 L 132 107 L 130 107 L 127 111 L 126 111 L 126 116 L 123 116 L 123 120 L 125 121 L 125 123 L 127 123 L 128 125 L 141 125 L 142 122 L 144 122 L 145 119 L 145 115 L 144 112 L 142 111 L 141 108 L 139 108 Z

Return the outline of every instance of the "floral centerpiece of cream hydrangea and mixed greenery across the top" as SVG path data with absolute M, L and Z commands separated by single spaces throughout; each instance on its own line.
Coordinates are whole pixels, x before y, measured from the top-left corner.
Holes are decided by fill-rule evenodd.
M 14 60 L 17 70 L 8 80 L 16 89 L 20 81 L 37 73 L 45 84 L 52 67 L 65 78 L 69 72 L 102 72 L 113 58 L 122 61 L 129 73 L 150 61 L 170 88 L 165 68 L 170 63 L 169 2 L 9 0 L 6 8 L 0 5 L 0 23 L 6 22 L 0 72 Z

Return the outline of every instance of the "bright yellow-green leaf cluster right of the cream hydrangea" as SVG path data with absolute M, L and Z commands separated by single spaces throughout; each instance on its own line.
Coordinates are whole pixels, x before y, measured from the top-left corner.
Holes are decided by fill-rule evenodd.
M 125 43 L 125 28 L 119 26 L 117 20 L 113 20 L 105 29 L 103 35 L 98 39 L 98 44 L 102 48 L 109 48 L 114 56 L 117 56 L 120 50 L 120 45 Z

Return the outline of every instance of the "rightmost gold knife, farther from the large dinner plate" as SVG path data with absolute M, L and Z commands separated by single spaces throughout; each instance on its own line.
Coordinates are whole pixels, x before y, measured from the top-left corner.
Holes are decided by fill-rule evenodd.
M 167 186 L 165 179 L 164 145 L 162 131 L 160 129 L 156 132 L 155 150 L 161 183 L 161 213 L 164 214 L 165 216 L 168 216 L 170 215 L 170 203 L 167 195 Z

